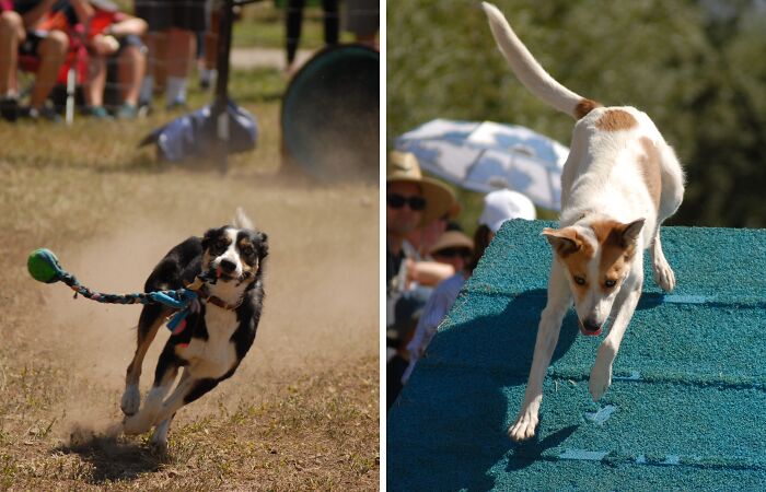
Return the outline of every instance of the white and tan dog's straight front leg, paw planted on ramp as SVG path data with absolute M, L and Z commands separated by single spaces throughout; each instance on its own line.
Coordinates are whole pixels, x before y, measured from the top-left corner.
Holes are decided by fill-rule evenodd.
M 535 434 L 538 422 L 537 413 L 543 401 L 543 380 L 558 342 L 561 321 L 571 304 L 572 297 L 564 269 L 557 260 L 554 260 L 548 282 L 548 301 L 537 328 L 537 340 L 532 356 L 530 379 L 524 391 L 524 402 L 515 422 L 508 429 L 508 435 L 513 441 L 529 440 Z

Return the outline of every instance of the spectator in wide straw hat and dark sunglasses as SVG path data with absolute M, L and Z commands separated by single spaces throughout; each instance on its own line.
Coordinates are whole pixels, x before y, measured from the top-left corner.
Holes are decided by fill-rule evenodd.
M 407 367 L 404 345 L 417 324 L 432 289 L 414 282 L 413 260 L 417 250 L 407 236 L 449 215 L 456 209 L 455 196 L 437 179 L 425 177 L 415 155 L 392 152 L 386 175 L 386 340 L 388 347 L 388 402 L 401 389 L 401 375 Z M 398 387 L 396 387 L 398 386 Z

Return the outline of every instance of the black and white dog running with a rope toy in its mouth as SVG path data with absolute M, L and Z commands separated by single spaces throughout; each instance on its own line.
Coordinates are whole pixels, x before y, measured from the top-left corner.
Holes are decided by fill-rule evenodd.
M 233 226 L 189 237 L 154 267 L 146 283 L 147 292 L 192 288 L 197 290 L 198 302 L 192 304 L 185 320 L 165 343 L 154 384 L 139 410 L 143 358 L 158 329 L 173 313 L 161 304 L 143 307 L 138 347 L 128 365 L 121 400 L 126 434 L 141 434 L 153 426 L 152 444 L 165 446 L 175 412 L 234 374 L 255 340 L 267 255 L 266 234 L 253 230 L 237 209 Z M 196 286 L 189 286 L 195 282 Z M 179 368 L 183 373 L 171 393 Z

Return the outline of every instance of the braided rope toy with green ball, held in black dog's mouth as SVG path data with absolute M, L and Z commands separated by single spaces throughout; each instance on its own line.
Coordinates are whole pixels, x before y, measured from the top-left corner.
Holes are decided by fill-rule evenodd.
M 105 294 L 94 292 L 82 285 L 77 278 L 61 268 L 58 258 L 46 248 L 35 249 L 26 260 L 26 268 L 33 279 L 43 283 L 63 282 L 78 295 L 105 304 L 152 304 L 159 303 L 178 309 L 167 323 L 167 329 L 173 335 L 178 335 L 186 328 L 186 316 L 189 312 L 199 311 L 199 295 L 206 283 L 216 283 L 216 278 L 209 274 L 197 276 L 195 281 L 186 289 L 138 292 L 132 294 Z

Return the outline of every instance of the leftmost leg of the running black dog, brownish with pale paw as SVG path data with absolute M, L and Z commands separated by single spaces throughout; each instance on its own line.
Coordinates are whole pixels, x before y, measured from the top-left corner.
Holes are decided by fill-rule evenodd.
M 151 345 L 154 340 L 156 331 L 170 313 L 171 309 L 156 304 L 146 305 L 141 311 L 141 316 L 138 319 L 136 353 L 130 364 L 128 364 L 127 374 L 125 376 L 125 391 L 123 393 L 120 402 L 123 413 L 126 415 L 135 414 L 141 405 L 141 393 L 138 384 L 141 379 L 143 358 L 147 355 L 149 345 Z

